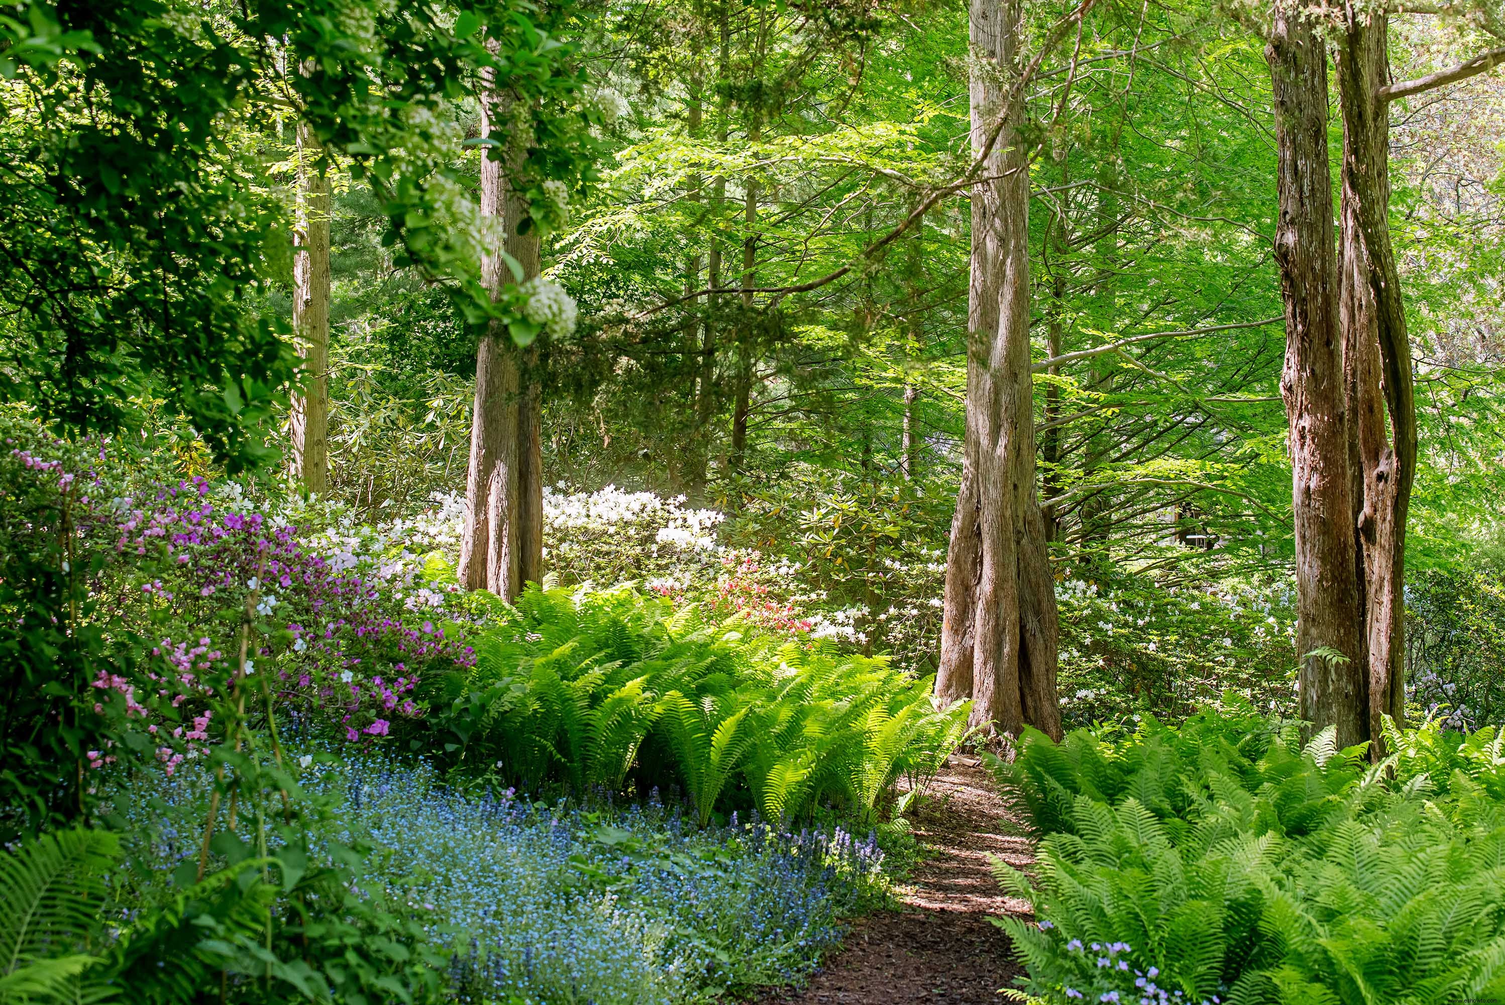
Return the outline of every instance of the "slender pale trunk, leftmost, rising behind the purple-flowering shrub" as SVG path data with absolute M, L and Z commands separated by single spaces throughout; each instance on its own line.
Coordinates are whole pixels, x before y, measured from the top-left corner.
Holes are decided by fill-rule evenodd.
M 309 492 L 330 484 L 330 179 L 307 123 L 298 123 L 299 227 L 293 232 L 292 326 L 303 384 L 292 396 L 292 469 Z

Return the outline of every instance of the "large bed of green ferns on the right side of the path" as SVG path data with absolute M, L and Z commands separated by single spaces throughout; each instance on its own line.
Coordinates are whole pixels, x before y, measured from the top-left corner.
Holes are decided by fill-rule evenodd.
M 1421 733 L 1421 736 L 1416 736 Z M 1443 751 L 1451 745 L 1451 751 Z M 1041 833 L 999 879 L 1040 1002 L 1439 1005 L 1505 996 L 1505 803 L 1482 739 L 1332 733 L 1230 703 L 1174 730 L 1031 733 L 996 770 Z M 1494 751 L 1497 755 L 1497 749 Z M 1428 770 L 1445 769 L 1443 785 Z

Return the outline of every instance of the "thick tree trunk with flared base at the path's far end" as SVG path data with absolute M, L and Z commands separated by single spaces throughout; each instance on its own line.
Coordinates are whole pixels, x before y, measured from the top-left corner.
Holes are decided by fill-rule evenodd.
M 1029 375 L 1029 173 L 1017 78 L 1019 0 L 972 0 L 972 149 L 1002 134 L 972 188 L 966 453 L 947 560 L 936 697 L 972 722 L 1061 736 L 1055 585 L 1035 490 Z M 989 65 L 990 63 L 990 65 Z

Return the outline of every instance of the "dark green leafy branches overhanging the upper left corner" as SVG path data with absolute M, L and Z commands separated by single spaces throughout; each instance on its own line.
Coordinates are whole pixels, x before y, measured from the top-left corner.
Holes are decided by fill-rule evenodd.
M 482 71 L 531 113 L 540 144 L 515 184 L 578 178 L 561 105 L 578 78 L 533 8 L 65 3 L 0 20 L 0 372 L 75 430 L 117 430 L 150 391 L 232 469 L 263 462 L 265 420 L 295 376 L 284 319 L 265 310 L 292 221 L 259 185 L 250 134 L 301 119 L 367 182 L 393 260 L 444 280 L 467 317 L 521 317 L 513 284 L 480 286 L 474 206 L 445 107 Z M 557 12 L 558 14 L 558 12 Z M 534 15 L 534 17 L 530 17 Z M 552 15 L 551 15 L 552 17 Z M 537 18 L 543 20 L 543 18 Z M 548 149 L 543 144 L 548 144 Z

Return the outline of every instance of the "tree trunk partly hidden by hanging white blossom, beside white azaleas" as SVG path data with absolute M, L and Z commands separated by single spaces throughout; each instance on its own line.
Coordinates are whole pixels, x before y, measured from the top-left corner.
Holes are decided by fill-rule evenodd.
M 482 135 L 501 134 L 507 99 L 489 93 L 482 105 Z M 507 156 L 513 167 L 519 167 L 525 156 L 516 134 L 507 143 Z M 539 239 L 518 233 L 527 203 L 507 185 L 501 161 L 485 149 L 480 211 L 482 217 L 501 224 L 503 247 L 522 265 L 524 280 L 536 277 Z M 494 296 L 510 278 L 498 251 L 486 254 L 482 262 L 482 281 Z M 542 578 L 543 465 L 537 366 L 537 345 L 519 351 L 495 322 L 476 352 L 459 579 L 471 590 L 491 590 L 507 600 L 522 591 L 524 582 Z

